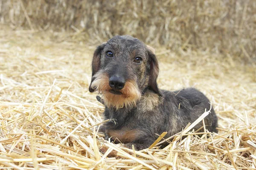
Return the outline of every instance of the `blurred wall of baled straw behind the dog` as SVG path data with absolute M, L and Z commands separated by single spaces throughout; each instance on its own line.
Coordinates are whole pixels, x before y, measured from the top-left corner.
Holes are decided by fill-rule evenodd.
M 209 50 L 249 63 L 256 61 L 255 10 L 255 0 L 0 2 L 1 22 L 13 28 L 72 30 L 97 43 L 128 34 L 175 52 Z

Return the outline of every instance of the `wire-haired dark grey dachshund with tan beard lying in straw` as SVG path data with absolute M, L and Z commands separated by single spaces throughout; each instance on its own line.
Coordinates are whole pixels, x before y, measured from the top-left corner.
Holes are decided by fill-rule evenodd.
M 158 138 L 156 134 L 175 135 L 210 109 L 208 98 L 197 89 L 159 89 L 158 73 L 154 49 L 137 38 L 118 35 L 96 48 L 89 91 L 102 95 L 97 99 L 105 105 L 105 120 L 110 119 L 100 129 L 106 140 L 143 150 Z M 213 109 L 204 123 L 209 132 L 218 133 Z M 194 130 L 202 126 L 200 122 Z

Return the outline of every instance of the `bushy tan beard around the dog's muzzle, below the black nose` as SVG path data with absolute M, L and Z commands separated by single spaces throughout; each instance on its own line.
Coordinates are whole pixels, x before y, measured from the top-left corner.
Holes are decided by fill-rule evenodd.
M 126 81 L 124 88 L 119 91 L 122 92 L 122 95 L 115 95 L 109 92 L 111 87 L 109 86 L 109 76 L 106 73 L 99 71 L 94 77 L 95 80 L 91 86 L 102 95 L 102 99 L 107 107 L 115 107 L 116 109 L 122 107 L 131 108 L 140 99 L 140 91 L 134 81 Z

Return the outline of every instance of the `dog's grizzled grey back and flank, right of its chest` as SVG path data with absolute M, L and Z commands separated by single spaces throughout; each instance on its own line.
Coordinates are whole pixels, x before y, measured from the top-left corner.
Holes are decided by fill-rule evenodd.
M 205 110 L 210 109 L 208 98 L 197 89 L 188 88 L 175 92 L 160 90 L 160 92 L 162 96 L 159 98 L 155 98 L 151 92 L 147 92 L 151 95 L 147 94 L 146 99 L 142 98 L 137 109 L 133 111 L 134 121 L 144 122 L 137 126 L 146 129 L 145 131 L 150 136 L 154 136 L 155 133 L 160 135 L 163 132 L 168 132 L 166 138 L 175 135 L 187 124 L 192 124 L 197 120 Z M 154 101 L 157 102 L 154 103 Z M 144 107 L 142 107 L 142 103 L 145 105 Z M 152 103 L 154 103 L 153 107 Z M 204 118 L 204 123 L 209 132 L 218 132 L 216 130 L 218 118 L 213 108 L 211 108 L 210 114 Z M 198 132 L 204 132 L 202 127 L 203 122 L 201 121 L 193 129 L 195 131 L 201 129 Z

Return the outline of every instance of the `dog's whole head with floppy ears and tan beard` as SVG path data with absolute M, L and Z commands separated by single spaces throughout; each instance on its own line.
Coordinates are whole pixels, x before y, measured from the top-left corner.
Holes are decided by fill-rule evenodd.
M 154 49 L 131 36 L 115 36 L 93 54 L 90 92 L 102 94 L 107 107 L 133 107 L 145 89 L 160 94 Z

